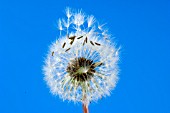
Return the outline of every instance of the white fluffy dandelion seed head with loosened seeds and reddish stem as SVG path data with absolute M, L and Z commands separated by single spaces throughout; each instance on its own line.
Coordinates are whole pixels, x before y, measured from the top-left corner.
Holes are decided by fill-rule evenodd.
M 52 94 L 81 102 L 88 113 L 89 103 L 110 95 L 117 83 L 119 48 L 108 41 L 104 24 L 82 10 L 67 8 L 58 25 L 60 36 L 45 59 L 44 79 Z

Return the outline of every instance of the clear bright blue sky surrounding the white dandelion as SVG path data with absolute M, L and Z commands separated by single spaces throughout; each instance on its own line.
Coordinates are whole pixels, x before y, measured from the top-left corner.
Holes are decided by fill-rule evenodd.
M 42 65 L 66 6 L 107 22 L 121 45 L 120 80 L 90 113 L 170 113 L 169 0 L 0 0 L 0 113 L 81 113 L 52 96 Z

